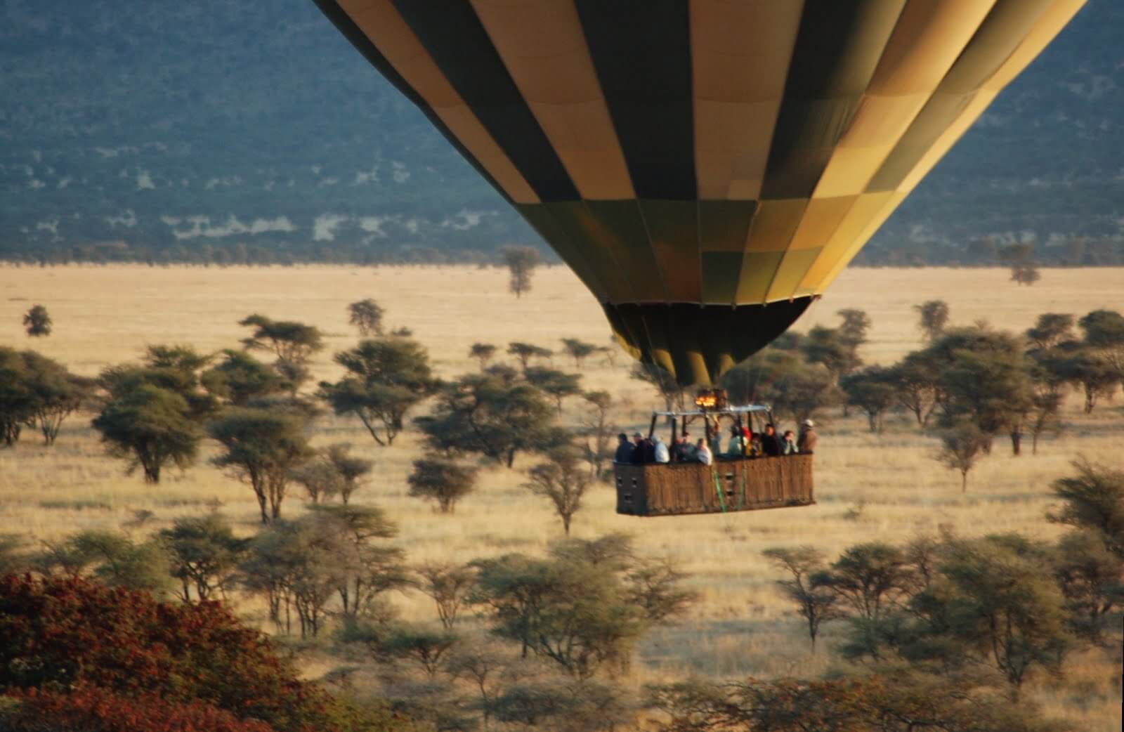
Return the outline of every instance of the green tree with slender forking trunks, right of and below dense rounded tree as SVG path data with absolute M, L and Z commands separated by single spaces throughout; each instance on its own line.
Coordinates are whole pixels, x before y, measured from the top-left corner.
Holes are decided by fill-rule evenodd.
M 281 504 L 292 471 L 312 455 L 301 416 L 279 408 L 234 407 L 207 427 L 223 445 L 212 459 L 250 484 L 257 497 L 262 523 L 281 517 Z

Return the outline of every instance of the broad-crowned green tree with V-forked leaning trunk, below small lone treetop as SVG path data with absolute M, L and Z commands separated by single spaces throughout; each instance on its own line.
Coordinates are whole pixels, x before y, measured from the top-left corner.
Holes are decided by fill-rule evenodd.
M 346 376 L 320 382 L 320 397 L 337 415 L 354 415 L 379 445 L 393 444 L 406 415 L 439 382 L 429 368 L 429 354 L 416 341 L 400 337 L 363 341 L 336 354 Z

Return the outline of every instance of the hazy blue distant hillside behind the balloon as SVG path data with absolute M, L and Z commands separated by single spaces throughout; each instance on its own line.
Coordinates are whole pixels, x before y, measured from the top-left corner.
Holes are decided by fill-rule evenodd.
M 1124 2 L 1090 0 L 860 261 L 966 261 L 985 236 L 1124 257 L 1122 36 Z M 310 0 L 0 0 L 0 192 L 8 259 L 375 262 L 538 241 Z

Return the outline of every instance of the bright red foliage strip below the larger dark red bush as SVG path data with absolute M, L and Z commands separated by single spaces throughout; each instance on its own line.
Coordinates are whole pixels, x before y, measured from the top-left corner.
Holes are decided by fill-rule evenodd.
M 156 696 L 125 697 L 105 689 L 72 694 L 15 692 L 16 704 L 0 711 L 4 732 L 274 732 L 256 720 L 199 702 L 172 704 Z

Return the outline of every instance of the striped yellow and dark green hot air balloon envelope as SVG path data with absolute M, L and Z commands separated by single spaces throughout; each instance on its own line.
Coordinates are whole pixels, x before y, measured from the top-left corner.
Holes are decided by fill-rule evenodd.
M 316 0 L 600 300 L 710 383 L 1085 0 Z

